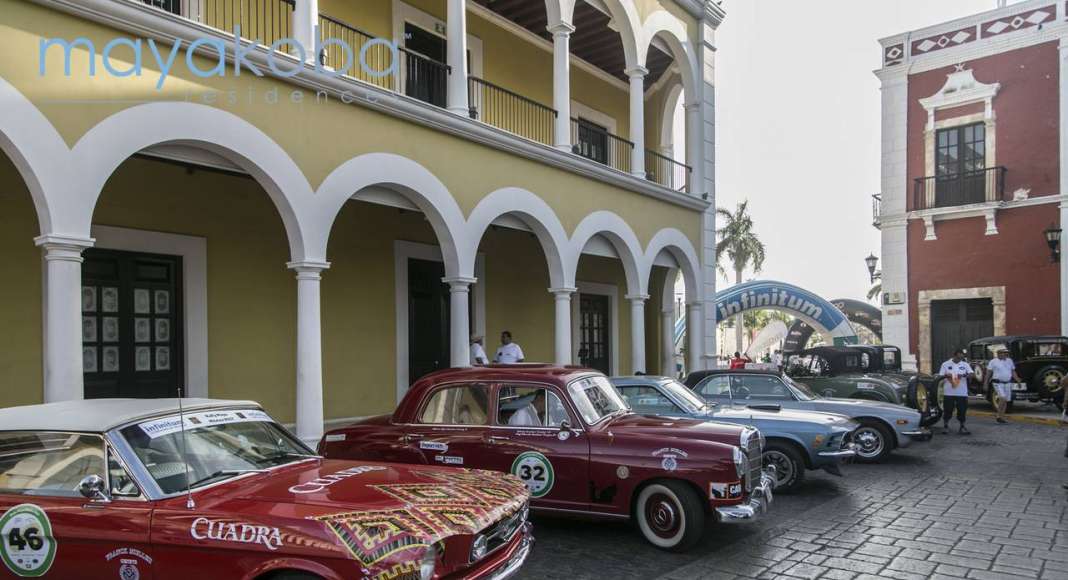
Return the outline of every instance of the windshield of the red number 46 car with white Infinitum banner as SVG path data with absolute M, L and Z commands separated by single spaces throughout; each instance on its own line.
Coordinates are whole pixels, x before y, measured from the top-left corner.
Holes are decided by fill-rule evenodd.
M 200 411 L 184 420 L 184 432 L 177 414 L 122 429 L 163 493 L 315 456 L 261 410 Z

